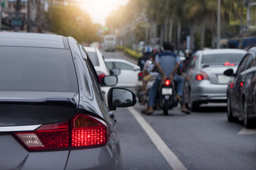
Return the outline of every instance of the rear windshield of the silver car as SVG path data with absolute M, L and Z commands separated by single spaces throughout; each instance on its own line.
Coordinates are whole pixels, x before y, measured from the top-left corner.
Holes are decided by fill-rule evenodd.
M 239 64 L 245 54 L 203 55 L 202 64 Z

